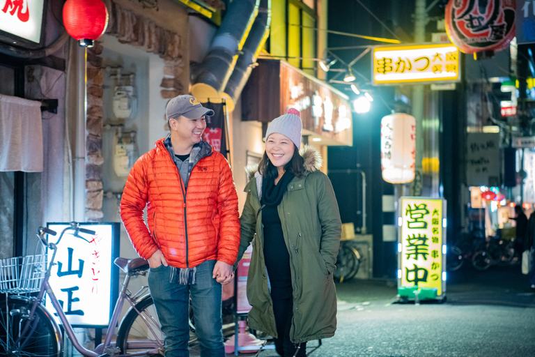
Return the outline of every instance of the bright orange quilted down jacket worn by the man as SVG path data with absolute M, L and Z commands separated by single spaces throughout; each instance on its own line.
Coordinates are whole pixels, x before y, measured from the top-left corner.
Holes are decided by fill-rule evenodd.
M 171 266 L 217 259 L 234 264 L 240 245 L 238 195 L 224 156 L 206 142 L 187 190 L 164 139 L 135 162 L 121 199 L 121 220 L 140 257 L 160 249 Z M 201 150 L 202 152 L 203 150 Z M 147 222 L 143 214 L 147 206 Z

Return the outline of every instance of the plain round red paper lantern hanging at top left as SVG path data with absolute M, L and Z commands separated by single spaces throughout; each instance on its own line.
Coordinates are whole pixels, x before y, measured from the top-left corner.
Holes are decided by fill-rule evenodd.
M 100 0 L 67 0 L 63 24 L 80 46 L 92 47 L 108 26 L 108 10 Z

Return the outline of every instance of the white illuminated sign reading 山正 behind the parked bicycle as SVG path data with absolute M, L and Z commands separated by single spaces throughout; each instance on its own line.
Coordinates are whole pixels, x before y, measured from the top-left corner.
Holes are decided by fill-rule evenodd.
M 67 223 L 49 223 L 49 229 L 61 232 Z M 93 236 L 80 233 L 78 238 L 65 234 L 58 245 L 56 265 L 52 268 L 50 286 L 72 326 L 105 327 L 118 294 L 117 256 L 119 223 L 81 224 L 95 231 Z M 49 259 L 52 250 L 48 251 Z M 52 302 L 47 295 L 47 305 Z M 54 318 L 61 324 L 57 314 Z

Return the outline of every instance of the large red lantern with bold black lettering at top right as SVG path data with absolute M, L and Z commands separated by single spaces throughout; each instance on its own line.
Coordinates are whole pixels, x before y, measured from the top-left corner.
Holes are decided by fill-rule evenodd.
M 515 37 L 515 1 L 450 0 L 446 31 L 464 53 L 504 50 Z

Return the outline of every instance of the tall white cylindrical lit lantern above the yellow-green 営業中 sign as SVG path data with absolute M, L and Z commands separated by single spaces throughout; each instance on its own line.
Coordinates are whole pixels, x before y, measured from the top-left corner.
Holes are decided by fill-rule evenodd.
M 389 183 L 414 180 L 416 119 L 395 113 L 381 119 L 382 179 Z

